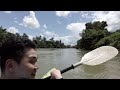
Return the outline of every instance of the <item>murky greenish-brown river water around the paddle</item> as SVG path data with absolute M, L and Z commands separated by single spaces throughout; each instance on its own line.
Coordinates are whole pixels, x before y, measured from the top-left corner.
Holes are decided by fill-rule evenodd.
M 38 72 L 41 78 L 52 68 L 63 70 L 79 62 L 87 53 L 81 49 L 37 49 Z M 64 79 L 120 79 L 120 53 L 113 59 L 96 66 L 81 65 L 62 74 Z

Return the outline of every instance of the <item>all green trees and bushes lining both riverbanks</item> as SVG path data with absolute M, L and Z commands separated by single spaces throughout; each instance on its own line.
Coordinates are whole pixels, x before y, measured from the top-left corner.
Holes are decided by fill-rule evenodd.
M 38 48 L 81 48 L 85 50 L 93 50 L 100 46 L 114 46 L 120 50 L 120 29 L 115 32 L 109 32 L 107 30 L 107 22 L 95 21 L 85 24 L 86 28 L 80 33 L 81 39 L 77 41 L 77 45 L 70 46 L 64 45 L 61 40 L 54 40 L 54 37 L 49 40 L 46 37 L 36 36 L 33 38 L 33 42 L 36 43 Z M 9 37 L 22 37 L 28 38 L 28 35 L 23 33 L 12 34 L 0 27 L 0 45 Z

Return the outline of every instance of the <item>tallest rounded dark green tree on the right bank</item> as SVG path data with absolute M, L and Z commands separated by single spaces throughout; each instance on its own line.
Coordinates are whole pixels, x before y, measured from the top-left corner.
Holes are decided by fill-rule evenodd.
M 86 29 L 80 34 L 81 39 L 77 41 L 77 47 L 91 50 L 96 48 L 95 44 L 102 38 L 106 37 L 109 32 L 106 29 L 107 23 L 105 21 L 89 22 L 85 24 Z

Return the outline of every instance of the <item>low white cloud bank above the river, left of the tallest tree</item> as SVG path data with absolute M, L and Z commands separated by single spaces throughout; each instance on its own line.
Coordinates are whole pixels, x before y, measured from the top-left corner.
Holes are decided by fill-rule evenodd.
M 44 35 L 47 35 L 48 39 L 54 37 L 54 40 L 61 40 L 65 45 L 76 45 L 77 40 L 80 39 L 79 33 L 82 32 L 84 28 L 84 23 L 71 23 L 66 26 L 66 29 L 72 31 L 71 35 L 60 36 L 50 31 L 45 31 Z

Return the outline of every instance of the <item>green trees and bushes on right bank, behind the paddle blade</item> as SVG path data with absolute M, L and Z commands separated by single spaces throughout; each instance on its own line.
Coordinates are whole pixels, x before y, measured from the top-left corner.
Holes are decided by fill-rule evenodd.
M 116 32 L 108 32 L 107 22 L 96 21 L 85 24 L 86 29 L 80 34 L 77 48 L 92 50 L 100 46 L 114 46 L 120 50 L 120 29 Z

